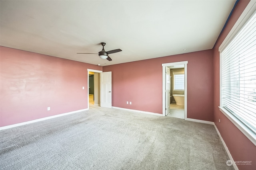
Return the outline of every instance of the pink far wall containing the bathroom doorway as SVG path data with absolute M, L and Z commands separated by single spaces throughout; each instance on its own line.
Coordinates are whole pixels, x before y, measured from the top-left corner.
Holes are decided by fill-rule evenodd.
M 188 118 L 213 121 L 212 55 L 205 50 L 104 66 L 112 71 L 112 106 L 162 114 L 161 64 L 188 61 Z

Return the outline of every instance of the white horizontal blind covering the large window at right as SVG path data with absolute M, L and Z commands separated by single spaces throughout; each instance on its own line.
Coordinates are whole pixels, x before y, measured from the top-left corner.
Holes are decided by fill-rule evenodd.
M 256 15 L 221 54 L 221 107 L 256 134 Z

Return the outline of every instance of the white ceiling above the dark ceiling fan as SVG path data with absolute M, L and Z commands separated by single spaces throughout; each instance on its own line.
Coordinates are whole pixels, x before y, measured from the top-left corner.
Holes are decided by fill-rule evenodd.
M 0 45 L 102 66 L 212 49 L 235 2 L 1 0 Z M 76 54 L 100 42 L 122 51 Z

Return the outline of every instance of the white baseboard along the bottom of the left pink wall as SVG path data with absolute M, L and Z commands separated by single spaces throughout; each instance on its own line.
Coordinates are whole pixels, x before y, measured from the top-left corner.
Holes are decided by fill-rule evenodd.
M 49 116 L 49 117 L 43 117 L 43 118 L 40 118 L 40 119 L 35 119 L 35 120 L 26 121 L 26 122 L 22 122 L 22 123 L 17 123 L 17 124 L 13 124 L 13 125 L 3 126 L 3 127 L 0 127 L 0 131 L 1 131 L 1 130 L 4 130 L 4 129 L 9 129 L 9 128 L 12 128 L 12 127 L 17 127 L 17 126 L 21 126 L 21 125 L 26 125 L 26 124 L 29 124 L 29 123 L 35 123 L 35 122 L 38 122 L 38 121 L 43 121 L 43 120 L 52 119 L 52 118 L 55 118 L 55 117 L 60 117 L 60 116 L 64 116 L 64 115 L 69 115 L 69 114 L 73 114 L 73 113 L 77 113 L 77 112 L 85 111 L 85 110 L 88 110 L 88 108 L 87 108 L 87 109 L 76 110 L 76 111 L 70 111 L 70 112 L 68 112 L 68 113 L 62 113 L 62 114 L 59 114 L 59 115 L 53 115 L 53 116 Z

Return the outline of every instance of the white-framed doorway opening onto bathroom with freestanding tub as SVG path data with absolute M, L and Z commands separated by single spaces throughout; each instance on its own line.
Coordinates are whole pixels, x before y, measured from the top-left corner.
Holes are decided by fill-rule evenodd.
M 162 64 L 163 116 L 187 119 L 187 64 L 188 61 Z M 170 69 L 170 94 L 166 93 L 166 68 Z

